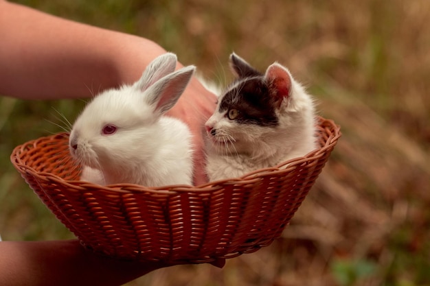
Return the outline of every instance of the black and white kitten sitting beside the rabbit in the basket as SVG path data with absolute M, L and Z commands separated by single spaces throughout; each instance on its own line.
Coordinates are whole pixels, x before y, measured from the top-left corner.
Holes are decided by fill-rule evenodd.
M 277 62 L 260 73 L 232 53 L 237 75 L 218 97 L 207 131 L 207 176 L 234 178 L 315 150 L 313 100 Z

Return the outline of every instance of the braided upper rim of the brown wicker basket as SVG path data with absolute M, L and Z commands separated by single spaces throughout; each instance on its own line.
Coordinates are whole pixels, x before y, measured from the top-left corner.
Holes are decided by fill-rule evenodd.
M 337 125 L 332 119 L 325 119 L 324 117 L 321 117 L 321 116 L 317 117 L 317 122 L 318 122 L 317 126 L 319 126 L 319 128 L 325 125 L 331 128 L 333 131 L 333 132 L 330 132 L 330 136 L 328 136 L 326 140 L 326 144 L 323 147 L 318 147 L 317 149 L 306 154 L 305 156 L 287 160 L 274 167 L 268 167 L 264 169 L 251 171 L 248 174 L 239 176 L 237 178 L 225 178 L 222 180 L 206 182 L 204 184 L 199 184 L 196 186 L 188 185 L 188 184 L 174 184 L 174 185 L 166 185 L 161 187 L 147 187 L 147 186 L 143 186 L 139 184 L 131 184 L 131 183 L 109 184 L 109 185 L 103 186 L 99 184 L 93 184 L 91 182 L 85 182 L 82 180 L 65 180 L 56 174 L 36 171 L 34 168 L 26 165 L 21 160 L 21 158 L 19 158 L 19 156 L 16 156 L 16 154 L 19 154 L 20 150 L 23 150 L 26 147 L 29 147 L 29 146 L 36 147 L 36 145 L 38 145 L 38 143 L 42 141 L 49 141 L 49 140 L 54 140 L 61 137 L 69 136 L 69 133 L 67 132 L 60 132 L 49 136 L 43 136 L 38 139 L 28 141 L 27 143 L 18 145 L 12 151 L 10 160 L 16 169 L 21 169 L 22 171 L 32 174 L 32 176 L 39 177 L 39 178 L 46 178 L 47 180 L 49 179 L 54 182 L 60 182 L 61 184 L 69 185 L 69 187 L 73 187 L 75 189 L 78 187 L 78 189 L 82 189 L 82 191 L 85 191 L 88 187 L 92 187 L 92 188 L 97 188 L 99 191 L 112 191 L 115 193 L 148 192 L 148 193 L 154 193 L 154 194 L 160 194 L 160 193 L 166 194 L 166 193 L 200 192 L 200 191 L 211 192 L 211 191 L 218 191 L 222 189 L 223 187 L 221 185 L 225 185 L 225 184 L 237 184 L 238 182 L 252 183 L 254 180 L 258 180 L 258 178 L 256 178 L 256 176 L 258 175 L 271 174 L 273 172 L 278 172 L 278 171 L 285 172 L 290 169 L 294 169 L 295 167 L 297 167 L 297 165 L 301 165 L 302 163 L 305 163 L 309 160 L 313 160 L 315 158 L 324 156 L 326 150 L 332 148 L 333 145 L 335 145 L 338 139 L 341 137 L 340 126 Z M 288 166 L 284 167 L 286 165 Z

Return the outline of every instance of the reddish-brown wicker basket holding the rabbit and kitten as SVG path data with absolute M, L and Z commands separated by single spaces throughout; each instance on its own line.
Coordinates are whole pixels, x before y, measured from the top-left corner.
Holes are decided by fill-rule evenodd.
M 275 168 L 198 187 L 102 187 L 79 181 L 68 134 L 16 147 L 11 160 L 43 203 L 81 243 L 110 257 L 212 262 L 279 237 L 324 167 L 339 126 L 319 118 L 319 149 Z

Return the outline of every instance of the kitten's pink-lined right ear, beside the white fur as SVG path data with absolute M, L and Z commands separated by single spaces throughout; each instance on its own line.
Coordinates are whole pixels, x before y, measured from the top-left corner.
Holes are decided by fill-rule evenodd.
M 282 67 L 281 64 L 275 62 L 271 64 L 264 76 L 269 86 L 275 90 L 275 102 L 279 105 L 284 99 L 288 99 L 291 95 L 291 74 L 288 69 Z

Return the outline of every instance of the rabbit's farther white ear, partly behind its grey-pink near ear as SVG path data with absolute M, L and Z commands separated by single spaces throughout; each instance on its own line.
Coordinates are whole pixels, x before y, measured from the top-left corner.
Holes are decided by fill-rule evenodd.
M 146 89 L 152 86 L 152 84 L 155 84 L 157 80 L 172 73 L 174 69 L 176 69 L 176 64 L 177 56 L 174 53 L 164 53 L 158 56 L 148 64 L 142 77 L 140 77 L 135 85 L 141 91 L 146 91 Z

